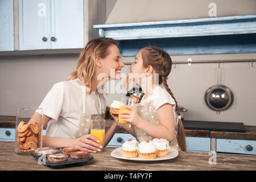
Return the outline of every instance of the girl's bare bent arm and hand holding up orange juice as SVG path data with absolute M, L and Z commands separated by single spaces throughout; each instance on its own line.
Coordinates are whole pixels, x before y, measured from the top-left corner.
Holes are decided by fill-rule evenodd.
M 153 138 L 165 138 L 169 142 L 174 140 L 175 122 L 174 111 L 172 110 L 171 104 L 164 104 L 156 110 L 159 125 L 155 125 L 145 119 L 142 119 L 133 107 L 125 107 L 129 108 L 131 111 L 122 112 L 122 114 L 127 114 L 122 115 L 123 121 L 131 122 L 134 126 L 137 126 Z

